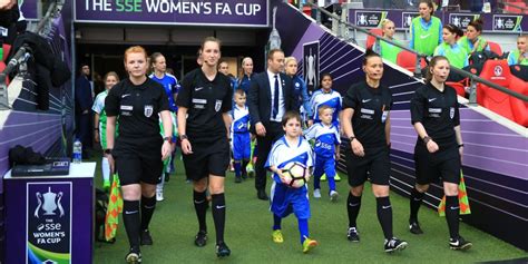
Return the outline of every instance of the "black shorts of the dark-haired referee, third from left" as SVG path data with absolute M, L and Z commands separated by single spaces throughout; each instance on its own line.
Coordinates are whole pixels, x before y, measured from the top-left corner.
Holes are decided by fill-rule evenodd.
M 389 149 L 380 147 L 365 149 L 365 156 L 355 156 L 352 149 L 346 153 L 346 173 L 349 185 L 358 187 L 363 185 L 368 178 L 372 184 L 390 185 L 391 160 Z

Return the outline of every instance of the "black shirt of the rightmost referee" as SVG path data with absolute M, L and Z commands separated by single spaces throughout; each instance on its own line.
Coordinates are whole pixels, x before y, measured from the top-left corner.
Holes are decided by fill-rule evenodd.
M 419 87 L 411 99 L 411 120 L 413 125 L 421 123 L 440 149 L 457 145 L 453 129 L 460 125 L 457 92 L 450 86 L 444 86 L 443 91 L 431 84 Z

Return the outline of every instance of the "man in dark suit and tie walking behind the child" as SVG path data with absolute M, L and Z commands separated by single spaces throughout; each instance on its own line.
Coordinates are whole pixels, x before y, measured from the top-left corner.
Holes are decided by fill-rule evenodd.
M 283 74 L 284 52 L 272 49 L 267 53 L 267 70 L 251 80 L 247 107 L 251 116 L 251 131 L 256 134 L 258 146 L 255 166 L 255 188 L 257 197 L 267 201 L 266 170 L 264 165 L 273 143 L 284 135 L 281 120 L 289 110 L 299 110 L 293 96 L 292 79 Z

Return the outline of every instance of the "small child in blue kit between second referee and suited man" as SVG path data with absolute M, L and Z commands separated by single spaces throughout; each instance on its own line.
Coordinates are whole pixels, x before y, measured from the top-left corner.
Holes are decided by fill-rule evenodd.
M 243 89 L 235 90 L 231 124 L 231 147 L 235 167 L 235 183 L 247 177 L 246 166 L 251 157 L 250 110 L 246 106 L 246 94 Z

